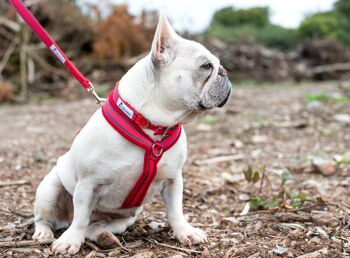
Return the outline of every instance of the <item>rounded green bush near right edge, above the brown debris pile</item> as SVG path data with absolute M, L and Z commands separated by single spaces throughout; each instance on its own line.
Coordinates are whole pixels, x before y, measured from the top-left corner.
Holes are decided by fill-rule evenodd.
M 335 37 L 338 26 L 334 12 L 316 13 L 302 21 L 297 35 L 300 39 Z

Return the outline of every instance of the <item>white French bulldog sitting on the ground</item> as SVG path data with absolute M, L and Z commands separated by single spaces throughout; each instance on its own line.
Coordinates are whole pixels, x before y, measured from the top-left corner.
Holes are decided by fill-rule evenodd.
M 218 58 L 201 44 L 181 38 L 160 15 L 150 54 L 125 74 L 119 91 L 153 124 L 173 126 L 222 107 L 231 84 Z M 182 131 L 160 160 L 145 202 L 161 190 L 175 236 L 181 243 L 196 244 L 207 236 L 192 227 L 182 211 L 186 149 Z M 113 233 L 123 233 L 143 208 L 118 208 L 142 171 L 143 156 L 144 150 L 123 138 L 97 110 L 40 183 L 33 238 L 53 238 L 54 229 L 69 226 L 52 245 L 56 254 L 77 253 L 85 238 L 102 247 L 116 244 Z

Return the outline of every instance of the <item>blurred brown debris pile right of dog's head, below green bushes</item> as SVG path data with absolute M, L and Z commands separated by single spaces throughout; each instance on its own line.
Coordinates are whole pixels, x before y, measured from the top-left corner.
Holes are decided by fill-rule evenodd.
M 211 40 L 205 44 L 219 53 L 234 80 L 337 80 L 350 76 L 349 51 L 335 40 L 307 41 L 291 52 L 252 43 L 229 46 Z

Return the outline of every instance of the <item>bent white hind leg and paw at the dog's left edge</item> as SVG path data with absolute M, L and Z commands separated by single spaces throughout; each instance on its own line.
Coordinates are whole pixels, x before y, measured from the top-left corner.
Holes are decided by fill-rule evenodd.
M 33 239 L 53 238 L 53 229 L 58 224 L 57 199 L 63 189 L 57 176 L 57 167 L 55 166 L 41 181 L 36 191 L 34 203 L 35 233 Z

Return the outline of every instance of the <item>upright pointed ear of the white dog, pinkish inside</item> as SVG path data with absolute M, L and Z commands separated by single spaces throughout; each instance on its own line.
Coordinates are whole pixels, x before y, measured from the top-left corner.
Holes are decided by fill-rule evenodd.
M 152 60 L 156 63 L 166 63 L 171 59 L 178 35 L 169 24 L 163 13 L 159 14 L 159 21 L 152 43 Z

